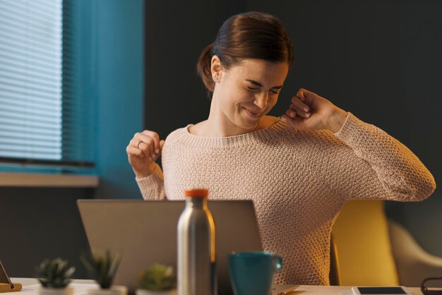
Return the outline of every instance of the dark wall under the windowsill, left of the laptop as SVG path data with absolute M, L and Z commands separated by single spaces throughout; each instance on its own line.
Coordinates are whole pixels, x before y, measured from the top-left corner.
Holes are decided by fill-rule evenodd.
M 78 255 L 89 249 L 76 209 L 85 188 L 0 188 L 0 260 L 11 277 L 33 277 L 45 258 L 75 265 L 75 277 L 88 277 Z

